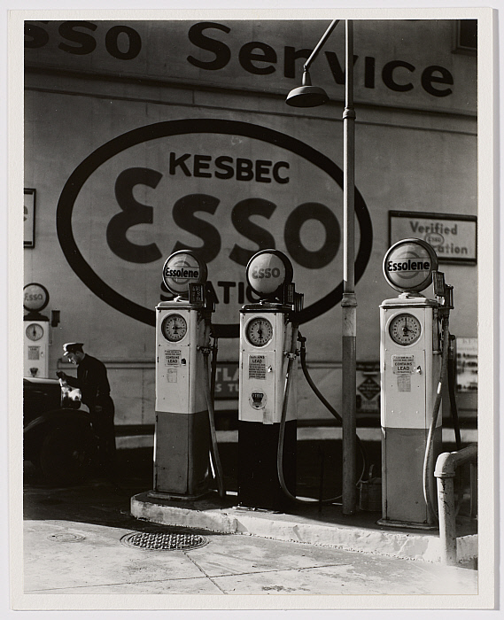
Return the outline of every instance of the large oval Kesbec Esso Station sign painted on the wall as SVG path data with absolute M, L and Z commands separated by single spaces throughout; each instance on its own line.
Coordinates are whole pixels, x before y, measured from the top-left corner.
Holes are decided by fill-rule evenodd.
M 332 159 L 275 129 L 163 121 L 116 136 L 81 161 L 58 200 L 58 241 L 90 291 L 151 326 L 159 300 L 197 277 L 188 258 L 196 256 L 207 266 L 216 337 L 239 337 L 240 308 L 282 282 L 292 280 L 304 294 L 299 324 L 341 301 L 343 186 Z M 357 283 L 373 229 L 358 190 L 354 198 Z M 274 252 L 260 254 L 247 274 L 252 257 L 266 250 Z M 179 254 L 165 265 L 177 252 L 188 253 L 188 264 L 177 263 Z

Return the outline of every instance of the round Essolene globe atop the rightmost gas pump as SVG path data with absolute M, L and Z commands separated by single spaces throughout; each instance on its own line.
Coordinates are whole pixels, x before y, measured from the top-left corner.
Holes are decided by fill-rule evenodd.
M 423 291 L 437 269 L 438 256 L 422 239 L 403 239 L 393 244 L 384 257 L 385 279 L 396 291 Z

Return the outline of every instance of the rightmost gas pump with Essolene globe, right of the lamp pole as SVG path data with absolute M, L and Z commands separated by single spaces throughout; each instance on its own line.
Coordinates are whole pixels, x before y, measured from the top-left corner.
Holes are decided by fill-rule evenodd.
M 384 276 L 398 298 L 380 306 L 382 519 L 436 528 L 434 464 L 441 452 L 441 387 L 446 377 L 453 287 L 434 249 L 404 239 L 386 252 Z M 436 299 L 424 297 L 434 282 Z

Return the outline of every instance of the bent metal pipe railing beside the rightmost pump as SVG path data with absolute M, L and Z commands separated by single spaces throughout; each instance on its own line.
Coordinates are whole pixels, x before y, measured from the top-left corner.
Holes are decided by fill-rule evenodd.
M 477 514 L 477 445 L 471 444 L 458 452 L 439 454 L 434 469 L 438 478 L 439 540 L 441 562 L 454 566 L 457 563 L 457 534 L 455 528 L 454 477 L 457 468 L 470 463 L 470 515 Z

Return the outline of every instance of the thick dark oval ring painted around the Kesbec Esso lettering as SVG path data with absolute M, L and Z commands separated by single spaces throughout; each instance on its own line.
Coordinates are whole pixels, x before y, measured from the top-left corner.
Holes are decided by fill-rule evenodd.
M 282 134 L 275 129 L 260 127 L 252 123 L 241 120 L 224 119 L 183 119 L 166 120 L 140 128 L 132 129 L 121 136 L 112 138 L 109 142 L 102 144 L 96 151 L 93 151 L 84 159 L 65 183 L 58 200 L 56 228 L 58 241 L 66 260 L 74 273 L 81 278 L 81 281 L 94 292 L 98 298 L 105 301 L 119 312 L 127 314 L 136 321 L 155 326 L 156 313 L 153 308 L 146 308 L 125 298 L 117 291 L 114 291 L 105 283 L 99 275 L 89 266 L 84 259 L 77 244 L 75 243 L 74 230 L 72 229 L 72 213 L 75 200 L 79 195 L 84 183 L 89 179 L 98 167 L 102 166 L 108 159 L 111 159 L 121 151 L 136 146 L 149 140 L 157 140 L 167 136 L 181 136 L 187 134 L 227 134 L 229 136 L 249 137 L 262 142 L 274 144 L 280 148 L 291 151 L 306 159 L 311 164 L 319 167 L 337 182 L 343 190 L 343 171 L 341 168 L 313 147 L 301 142 L 297 138 Z M 361 242 L 359 251 L 355 258 L 355 283 L 363 275 L 371 255 L 373 244 L 373 226 L 369 216 L 368 207 L 364 202 L 359 190 L 355 189 L 354 209 L 361 229 Z M 335 289 L 330 291 L 323 298 L 315 301 L 311 306 L 306 306 L 298 315 L 299 324 L 313 320 L 331 307 L 336 306 L 343 298 L 343 282 L 339 283 Z M 215 324 L 213 325 L 217 337 L 238 337 L 239 323 Z

